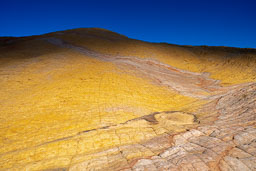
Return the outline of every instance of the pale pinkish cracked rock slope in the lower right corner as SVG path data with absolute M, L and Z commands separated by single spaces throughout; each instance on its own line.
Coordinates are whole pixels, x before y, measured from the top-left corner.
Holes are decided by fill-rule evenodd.
M 215 107 L 216 121 L 175 135 L 171 147 L 132 170 L 256 170 L 256 85 L 228 92 Z

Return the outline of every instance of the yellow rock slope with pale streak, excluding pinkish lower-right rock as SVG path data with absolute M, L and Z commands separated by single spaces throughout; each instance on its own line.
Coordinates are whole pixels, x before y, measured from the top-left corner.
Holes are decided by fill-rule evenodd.
M 123 167 L 154 155 L 136 145 L 197 126 L 198 109 L 224 85 L 256 79 L 255 52 L 232 48 L 99 29 L 10 39 L 0 47 L 3 170 Z

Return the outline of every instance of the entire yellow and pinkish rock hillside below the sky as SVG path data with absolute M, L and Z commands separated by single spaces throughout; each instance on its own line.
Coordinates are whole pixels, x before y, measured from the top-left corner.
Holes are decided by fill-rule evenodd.
M 256 50 L 103 29 L 0 39 L 1 170 L 256 170 Z

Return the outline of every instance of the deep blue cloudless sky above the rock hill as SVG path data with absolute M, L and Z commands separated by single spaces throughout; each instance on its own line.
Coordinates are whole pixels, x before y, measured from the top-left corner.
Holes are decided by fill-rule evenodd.
M 150 42 L 256 48 L 256 1 L 0 0 L 0 36 L 80 27 Z

